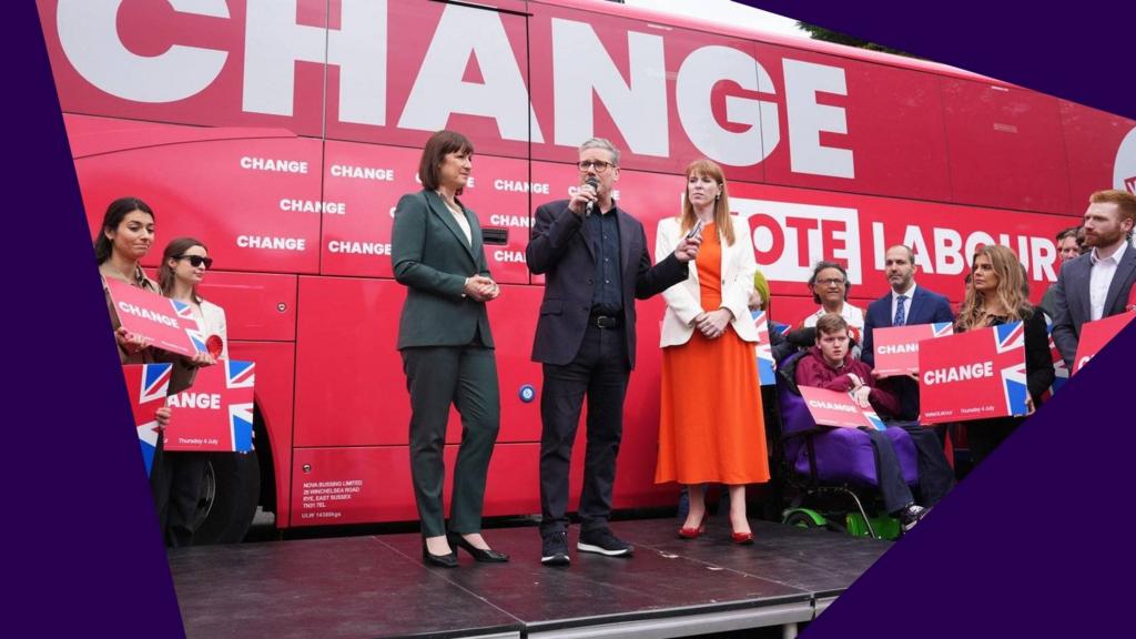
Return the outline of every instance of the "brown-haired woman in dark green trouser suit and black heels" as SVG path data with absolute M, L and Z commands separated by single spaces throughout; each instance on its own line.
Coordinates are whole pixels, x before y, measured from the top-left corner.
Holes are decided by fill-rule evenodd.
M 410 472 L 423 530 L 423 559 L 457 567 L 452 546 L 479 562 L 507 562 L 481 536 L 490 456 L 501 423 L 496 358 L 485 302 L 501 290 L 490 277 L 477 215 L 458 200 L 473 167 L 463 135 L 438 131 L 426 142 L 423 190 L 399 200 L 391 256 L 407 287 L 399 350 L 410 391 Z M 450 405 L 461 414 L 446 531 L 442 460 Z

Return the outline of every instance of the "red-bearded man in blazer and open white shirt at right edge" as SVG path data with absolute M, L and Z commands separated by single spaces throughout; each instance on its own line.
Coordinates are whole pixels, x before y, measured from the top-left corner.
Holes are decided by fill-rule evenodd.
M 1080 327 L 1124 313 L 1136 282 L 1136 249 L 1130 246 L 1136 196 L 1110 189 L 1093 193 L 1088 202 L 1084 229 L 1089 250 L 1061 265 L 1053 285 L 1053 342 L 1070 371 Z

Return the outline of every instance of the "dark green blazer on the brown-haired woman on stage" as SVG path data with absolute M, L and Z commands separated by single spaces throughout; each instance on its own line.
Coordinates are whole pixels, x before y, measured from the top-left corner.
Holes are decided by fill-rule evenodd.
M 458 202 L 461 205 L 461 202 Z M 394 279 L 407 287 L 399 323 L 399 349 L 466 346 L 479 335 L 493 348 L 485 304 L 462 294 L 466 277 L 490 275 L 477 215 L 461 205 L 473 242 L 434 191 L 408 193 L 394 209 L 391 259 Z

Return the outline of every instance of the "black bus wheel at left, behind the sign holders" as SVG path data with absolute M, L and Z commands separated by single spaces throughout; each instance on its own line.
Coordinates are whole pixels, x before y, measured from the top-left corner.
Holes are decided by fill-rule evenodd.
M 198 499 L 193 543 L 237 543 L 252 525 L 260 500 L 257 451 L 212 453 Z

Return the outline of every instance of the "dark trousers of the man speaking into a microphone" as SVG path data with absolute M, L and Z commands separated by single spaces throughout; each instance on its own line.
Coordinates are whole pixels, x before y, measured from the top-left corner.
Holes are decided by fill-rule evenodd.
M 579 412 L 587 396 L 587 451 L 579 498 L 582 528 L 607 528 L 616 456 L 624 433 L 624 398 L 630 364 L 624 329 L 590 325 L 576 359 L 544 365 L 541 395 L 541 534 L 568 526 L 568 470 Z

